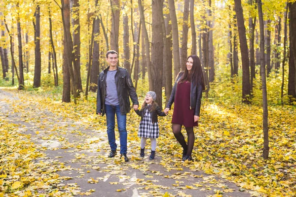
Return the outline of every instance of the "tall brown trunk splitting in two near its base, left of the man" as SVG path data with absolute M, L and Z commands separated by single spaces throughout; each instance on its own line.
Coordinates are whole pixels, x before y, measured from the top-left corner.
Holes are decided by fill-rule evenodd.
M 61 0 L 62 2 L 62 20 L 63 20 L 63 29 L 64 29 L 64 75 L 70 74 L 71 82 L 68 80 L 64 81 L 63 86 L 63 98 L 64 95 L 67 94 L 67 99 L 63 99 L 63 102 L 70 102 L 70 90 L 68 87 L 72 87 L 73 94 L 74 94 L 74 103 L 76 104 L 76 98 L 78 97 L 78 82 L 77 79 L 74 78 L 74 70 L 72 67 L 72 59 L 73 59 L 73 42 L 71 37 L 71 23 L 70 23 L 70 0 Z M 65 72 L 68 69 L 68 72 Z M 77 76 L 77 75 L 76 75 Z M 65 76 L 64 76 L 65 77 Z M 66 76 L 68 77 L 68 76 Z M 64 78 L 65 79 L 65 78 Z M 69 84 L 68 84 L 69 83 Z M 66 88 L 66 86 L 68 86 Z M 64 89 L 65 87 L 65 89 Z

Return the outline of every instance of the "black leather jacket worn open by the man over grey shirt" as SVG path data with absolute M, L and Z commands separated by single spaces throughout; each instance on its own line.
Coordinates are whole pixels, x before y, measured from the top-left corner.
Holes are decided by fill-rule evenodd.
M 100 72 L 98 79 L 97 91 L 97 114 L 105 114 L 105 98 L 106 98 L 106 78 L 109 66 Z M 118 95 L 118 101 L 121 114 L 127 114 L 131 109 L 129 97 L 132 99 L 133 104 L 139 105 L 138 96 L 134 88 L 132 79 L 127 69 L 117 66 L 115 74 L 115 85 Z

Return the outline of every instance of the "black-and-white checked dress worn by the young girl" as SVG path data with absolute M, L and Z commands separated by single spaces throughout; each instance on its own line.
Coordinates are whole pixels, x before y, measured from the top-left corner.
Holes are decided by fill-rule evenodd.
M 150 112 L 148 111 L 148 109 L 145 112 L 143 120 L 140 122 L 138 136 L 147 138 L 159 137 L 158 123 L 152 124 Z

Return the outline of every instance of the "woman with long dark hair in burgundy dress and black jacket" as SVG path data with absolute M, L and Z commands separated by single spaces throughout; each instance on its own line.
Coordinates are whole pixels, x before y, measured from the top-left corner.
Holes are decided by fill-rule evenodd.
M 198 56 L 191 55 L 187 58 L 184 71 L 179 72 L 169 102 L 164 109 L 167 113 L 175 102 L 172 128 L 176 139 L 183 147 L 182 161 L 192 161 L 195 139 L 193 127 L 198 125 L 203 90 L 205 84 L 200 60 Z M 187 132 L 187 144 L 181 132 L 182 125 Z

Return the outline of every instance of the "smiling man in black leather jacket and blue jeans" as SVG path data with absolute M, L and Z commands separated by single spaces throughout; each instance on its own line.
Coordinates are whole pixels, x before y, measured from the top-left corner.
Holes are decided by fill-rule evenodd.
M 107 118 L 107 134 L 111 148 L 108 157 L 116 155 L 117 144 L 115 142 L 115 114 L 117 117 L 117 126 L 120 139 L 120 158 L 128 162 L 127 151 L 127 131 L 126 114 L 130 111 L 131 98 L 134 109 L 139 107 L 138 96 L 133 86 L 130 74 L 127 69 L 117 66 L 118 53 L 108 51 L 106 54 L 108 67 L 99 74 L 98 92 L 97 92 L 97 114 Z

